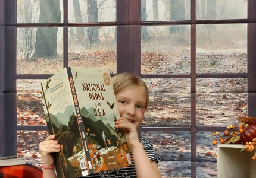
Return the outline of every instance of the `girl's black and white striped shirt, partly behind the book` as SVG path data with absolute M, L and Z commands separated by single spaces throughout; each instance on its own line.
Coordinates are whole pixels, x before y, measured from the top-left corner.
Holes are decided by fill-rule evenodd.
M 153 149 L 153 144 L 151 141 L 148 141 L 145 138 L 139 138 L 139 142 L 143 145 L 144 150 L 146 151 L 146 154 L 149 157 L 149 160 L 155 161 L 157 164 L 160 161 L 160 157 L 157 157 L 155 155 L 154 149 Z M 93 177 L 93 178 L 136 178 L 136 171 L 135 171 L 135 164 L 133 161 L 133 155 L 130 152 L 131 158 L 132 158 L 132 166 L 129 167 L 122 167 L 120 169 L 114 169 L 114 170 L 109 170 L 109 171 L 104 171 L 98 174 L 90 174 L 89 176 L 85 177 Z

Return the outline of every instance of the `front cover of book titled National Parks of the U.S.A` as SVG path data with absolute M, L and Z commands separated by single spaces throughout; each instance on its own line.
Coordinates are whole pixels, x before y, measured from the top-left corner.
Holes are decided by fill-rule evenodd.
M 93 170 L 95 172 L 129 165 L 129 148 L 120 129 L 110 74 L 71 68 Z

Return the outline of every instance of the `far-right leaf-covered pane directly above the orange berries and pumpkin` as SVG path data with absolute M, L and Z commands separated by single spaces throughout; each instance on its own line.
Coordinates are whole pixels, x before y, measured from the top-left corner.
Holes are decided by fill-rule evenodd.
M 196 124 L 228 126 L 247 116 L 247 78 L 196 80 Z

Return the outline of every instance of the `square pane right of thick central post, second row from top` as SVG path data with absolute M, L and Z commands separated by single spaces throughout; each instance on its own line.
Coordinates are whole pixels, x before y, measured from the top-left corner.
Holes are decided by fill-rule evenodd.
M 189 26 L 142 26 L 142 74 L 190 72 Z

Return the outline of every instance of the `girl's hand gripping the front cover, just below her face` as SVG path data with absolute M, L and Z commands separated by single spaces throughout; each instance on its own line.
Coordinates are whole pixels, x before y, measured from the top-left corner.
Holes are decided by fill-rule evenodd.
M 131 151 L 138 143 L 140 143 L 136 126 L 133 123 L 130 123 L 128 119 L 118 117 L 115 122 L 115 128 L 123 128 L 128 147 Z

